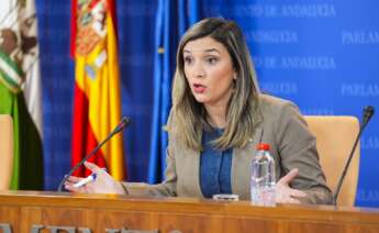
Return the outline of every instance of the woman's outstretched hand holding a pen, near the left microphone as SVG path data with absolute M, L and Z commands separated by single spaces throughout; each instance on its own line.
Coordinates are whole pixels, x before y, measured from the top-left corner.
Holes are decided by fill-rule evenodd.
M 115 181 L 111 175 L 105 170 L 101 169 L 97 165 L 86 162 L 85 166 L 90 169 L 93 174 L 97 174 L 97 178 L 86 185 L 76 188 L 74 185 L 83 178 L 70 176 L 65 182 L 65 188 L 73 192 L 80 193 L 116 193 L 125 195 L 124 189 L 121 184 Z

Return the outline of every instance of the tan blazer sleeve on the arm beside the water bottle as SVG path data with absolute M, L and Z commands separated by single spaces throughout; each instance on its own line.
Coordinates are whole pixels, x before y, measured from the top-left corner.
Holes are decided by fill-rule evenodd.
M 332 191 L 326 186 L 325 175 L 319 162 L 316 140 L 293 103 L 286 102 L 282 106 L 277 127 L 276 141 L 279 145 L 282 175 L 298 168 L 299 175 L 290 186 L 306 192 L 306 197 L 299 200 L 312 204 L 332 203 Z

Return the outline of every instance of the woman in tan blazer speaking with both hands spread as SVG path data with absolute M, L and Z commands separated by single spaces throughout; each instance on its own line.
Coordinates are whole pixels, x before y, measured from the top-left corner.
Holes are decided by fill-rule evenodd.
M 107 173 L 79 192 L 249 199 L 250 160 L 259 142 L 276 162 L 277 202 L 331 203 L 315 138 L 296 106 L 259 93 L 248 48 L 232 21 L 205 19 L 181 38 L 167 124 L 166 180 L 116 182 Z M 93 173 L 100 168 L 87 163 Z

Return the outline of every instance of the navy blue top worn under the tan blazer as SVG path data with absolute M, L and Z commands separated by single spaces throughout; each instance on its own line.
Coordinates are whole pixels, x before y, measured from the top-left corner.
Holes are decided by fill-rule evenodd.
M 218 138 L 222 130 L 203 131 L 200 155 L 200 187 L 205 198 L 213 195 L 232 193 L 231 170 L 233 149 L 220 151 L 212 146 L 211 141 Z

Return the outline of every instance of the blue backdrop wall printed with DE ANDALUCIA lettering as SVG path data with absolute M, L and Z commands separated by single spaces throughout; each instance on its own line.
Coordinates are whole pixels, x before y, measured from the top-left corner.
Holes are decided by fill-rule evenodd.
M 118 1 L 119 56 L 129 178 L 146 181 L 158 1 Z M 379 2 L 343 0 L 203 0 L 203 16 L 243 27 L 261 89 L 294 101 L 304 114 L 352 114 L 379 108 Z M 44 97 L 45 187 L 69 169 L 74 70 L 69 1 L 37 0 Z M 175 19 L 172 19 L 175 20 Z M 174 42 L 172 42 L 174 43 Z M 379 207 L 379 121 L 361 140 L 357 206 Z M 347 156 L 347 155 L 346 155 Z

